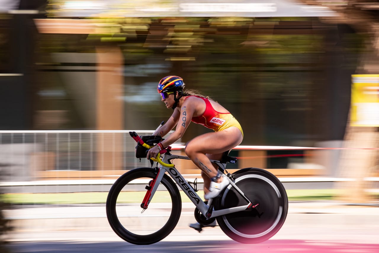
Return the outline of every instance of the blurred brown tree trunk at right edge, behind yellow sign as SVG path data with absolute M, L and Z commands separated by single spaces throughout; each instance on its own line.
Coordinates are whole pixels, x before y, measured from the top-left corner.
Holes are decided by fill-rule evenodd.
M 308 5 L 326 6 L 337 14 L 334 17 L 321 17 L 324 22 L 347 24 L 362 34 L 365 50 L 361 54 L 356 74 L 379 73 L 379 3 L 377 0 L 298 0 Z M 379 158 L 379 133 L 375 126 L 346 126 L 345 149 L 342 152 L 340 176 L 352 178 L 350 182 L 340 183 L 337 187 L 345 189 L 341 200 L 363 203 L 370 201 L 364 178 L 377 173 Z M 376 171 L 375 171 L 376 170 Z

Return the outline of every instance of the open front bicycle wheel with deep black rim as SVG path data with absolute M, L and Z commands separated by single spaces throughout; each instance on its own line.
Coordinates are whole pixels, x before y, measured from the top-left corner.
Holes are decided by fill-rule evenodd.
M 132 244 L 146 245 L 159 242 L 168 236 L 172 230 L 174 230 L 179 221 L 180 213 L 182 210 L 182 199 L 180 197 L 178 187 L 166 174 L 164 174 L 159 188 L 146 210 L 143 211 L 143 209 L 140 207 L 143 197 L 138 197 L 138 200 L 140 199 L 141 202 L 138 203 L 135 201 L 137 202 L 136 204 L 120 203 L 121 200 L 128 201 L 128 199 L 125 200 L 125 198 L 135 198 L 135 196 L 138 195 L 138 192 L 136 190 L 141 190 L 135 189 L 136 183 L 132 184 L 132 180 L 136 180 L 134 182 L 143 181 L 144 183 L 141 186 L 144 187 L 145 185 L 149 185 L 149 181 L 155 177 L 155 169 L 133 169 L 119 177 L 116 182 L 114 182 L 108 193 L 108 197 L 106 199 L 106 217 L 108 218 L 108 222 L 113 231 L 119 237 Z M 134 189 L 130 191 L 130 188 Z M 162 192 L 161 190 L 164 190 L 166 192 Z M 157 199 L 157 202 L 160 201 L 159 197 L 157 196 L 158 191 L 167 194 L 167 199 L 164 199 L 164 202 L 171 201 L 171 210 L 163 215 L 157 212 L 160 212 L 161 210 L 164 210 L 166 212 L 166 208 L 151 208 L 155 203 L 154 198 Z M 126 195 L 124 196 L 123 194 L 120 194 L 121 192 L 123 194 L 129 194 L 129 197 L 125 197 Z M 132 195 L 130 195 L 130 193 Z M 142 194 L 141 196 L 144 196 L 144 193 L 146 193 L 145 189 L 143 189 L 143 192 L 141 192 L 140 195 Z M 161 203 L 155 204 L 159 205 Z M 164 203 L 163 205 L 166 207 L 169 204 Z M 119 210 L 119 215 L 117 215 L 117 210 Z M 148 210 L 150 210 L 150 213 Z M 145 213 L 147 214 L 144 215 Z M 127 217 L 121 217 L 122 215 L 125 215 Z M 136 218 L 137 216 L 141 216 L 139 220 Z M 168 217 L 168 220 L 166 221 L 164 217 Z M 128 219 L 128 221 L 125 221 L 123 219 Z M 149 229 L 152 229 L 152 226 L 155 226 L 157 223 L 162 224 L 161 228 L 159 228 L 157 231 L 150 231 Z

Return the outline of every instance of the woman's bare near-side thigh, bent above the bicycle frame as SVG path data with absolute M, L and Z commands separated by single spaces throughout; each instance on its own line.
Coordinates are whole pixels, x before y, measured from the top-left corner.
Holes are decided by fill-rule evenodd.
M 222 154 L 239 145 L 242 138 L 241 131 L 236 127 L 230 127 L 219 132 L 205 133 L 188 142 L 186 152 Z

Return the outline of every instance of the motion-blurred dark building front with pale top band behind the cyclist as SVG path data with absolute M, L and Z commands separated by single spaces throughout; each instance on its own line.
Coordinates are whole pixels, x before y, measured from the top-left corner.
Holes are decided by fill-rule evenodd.
M 362 40 L 319 19 L 332 15 L 284 0 L 20 1 L 0 19 L 0 130 L 152 130 L 172 112 L 155 86 L 175 74 L 235 115 L 243 145 L 341 141 Z M 191 124 L 182 141 L 205 131 Z M 41 148 L 44 170 L 67 168 L 45 152 L 55 140 Z M 281 169 L 310 154 L 260 155 L 251 163 Z

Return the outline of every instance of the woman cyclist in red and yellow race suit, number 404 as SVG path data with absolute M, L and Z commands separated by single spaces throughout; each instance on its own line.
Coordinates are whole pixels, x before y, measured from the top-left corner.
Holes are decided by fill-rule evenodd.
M 201 169 L 204 198 L 215 198 L 229 185 L 229 181 L 224 180 L 225 175 L 218 173 L 217 165 L 213 165 L 210 159 L 220 160 L 223 152 L 239 145 L 243 139 L 243 131 L 240 123 L 227 109 L 208 97 L 193 91 L 183 91 L 184 87 L 185 83 L 179 76 L 166 76 L 159 82 L 157 90 L 162 102 L 167 108 L 174 109 L 174 112 L 153 135 L 163 137 L 175 126 L 176 128 L 168 138 L 149 150 L 147 159 L 156 157 L 161 149 L 180 139 L 191 121 L 214 130 L 189 141 L 185 153 Z

